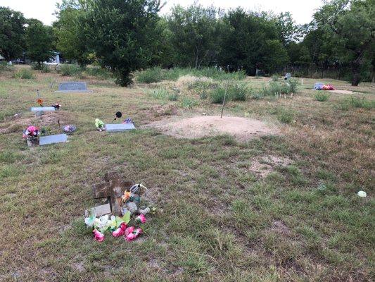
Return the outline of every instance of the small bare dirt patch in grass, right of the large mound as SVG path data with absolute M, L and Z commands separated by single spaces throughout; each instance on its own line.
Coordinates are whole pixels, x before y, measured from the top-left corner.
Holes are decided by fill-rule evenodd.
M 250 166 L 250 170 L 264 178 L 274 171 L 275 166 L 288 166 L 290 164 L 292 164 L 291 159 L 269 155 L 255 159 Z

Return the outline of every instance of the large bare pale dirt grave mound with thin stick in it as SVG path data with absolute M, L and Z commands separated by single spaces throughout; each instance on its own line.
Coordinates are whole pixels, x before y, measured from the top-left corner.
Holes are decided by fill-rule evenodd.
M 179 138 L 199 138 L 221 134 L 229 134 L 239 140 L 248 140 L 255 136 L 275 135 L 277 128 L 266 125 L 262 121 L 239 118 L 235 116 L 195 116 L 179 121 L 158 121 L 147 125 L 158 128 L 167 135 Z

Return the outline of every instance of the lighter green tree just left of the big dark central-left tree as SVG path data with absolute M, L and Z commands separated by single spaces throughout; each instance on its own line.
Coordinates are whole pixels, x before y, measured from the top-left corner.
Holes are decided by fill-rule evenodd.
M 53 23 L 58 51 L 61 51 L 65 59 L 75 60 L 80 66 L 90 62 L 91 50 L 84 30 L 84 18 L 89 7 L 86 0 L 63 0 L 61 4 L 57 4 L 58 21 Z

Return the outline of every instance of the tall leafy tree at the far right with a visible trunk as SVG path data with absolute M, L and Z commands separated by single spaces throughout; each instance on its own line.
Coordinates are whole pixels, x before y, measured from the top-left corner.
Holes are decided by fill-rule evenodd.
M 333 0 L 314 19 L 326 32 L 342 61 L 350 62 L 352 85 L 361 80 L 364 61 L 371 58 L 375 40 L 375 0 Z

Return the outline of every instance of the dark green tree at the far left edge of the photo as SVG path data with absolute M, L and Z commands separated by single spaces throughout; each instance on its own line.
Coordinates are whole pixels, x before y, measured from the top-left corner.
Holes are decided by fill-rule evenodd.
M 23 13 L 0 6 L 0 54 L 7 61 L 23 54 L 25 24 Z

